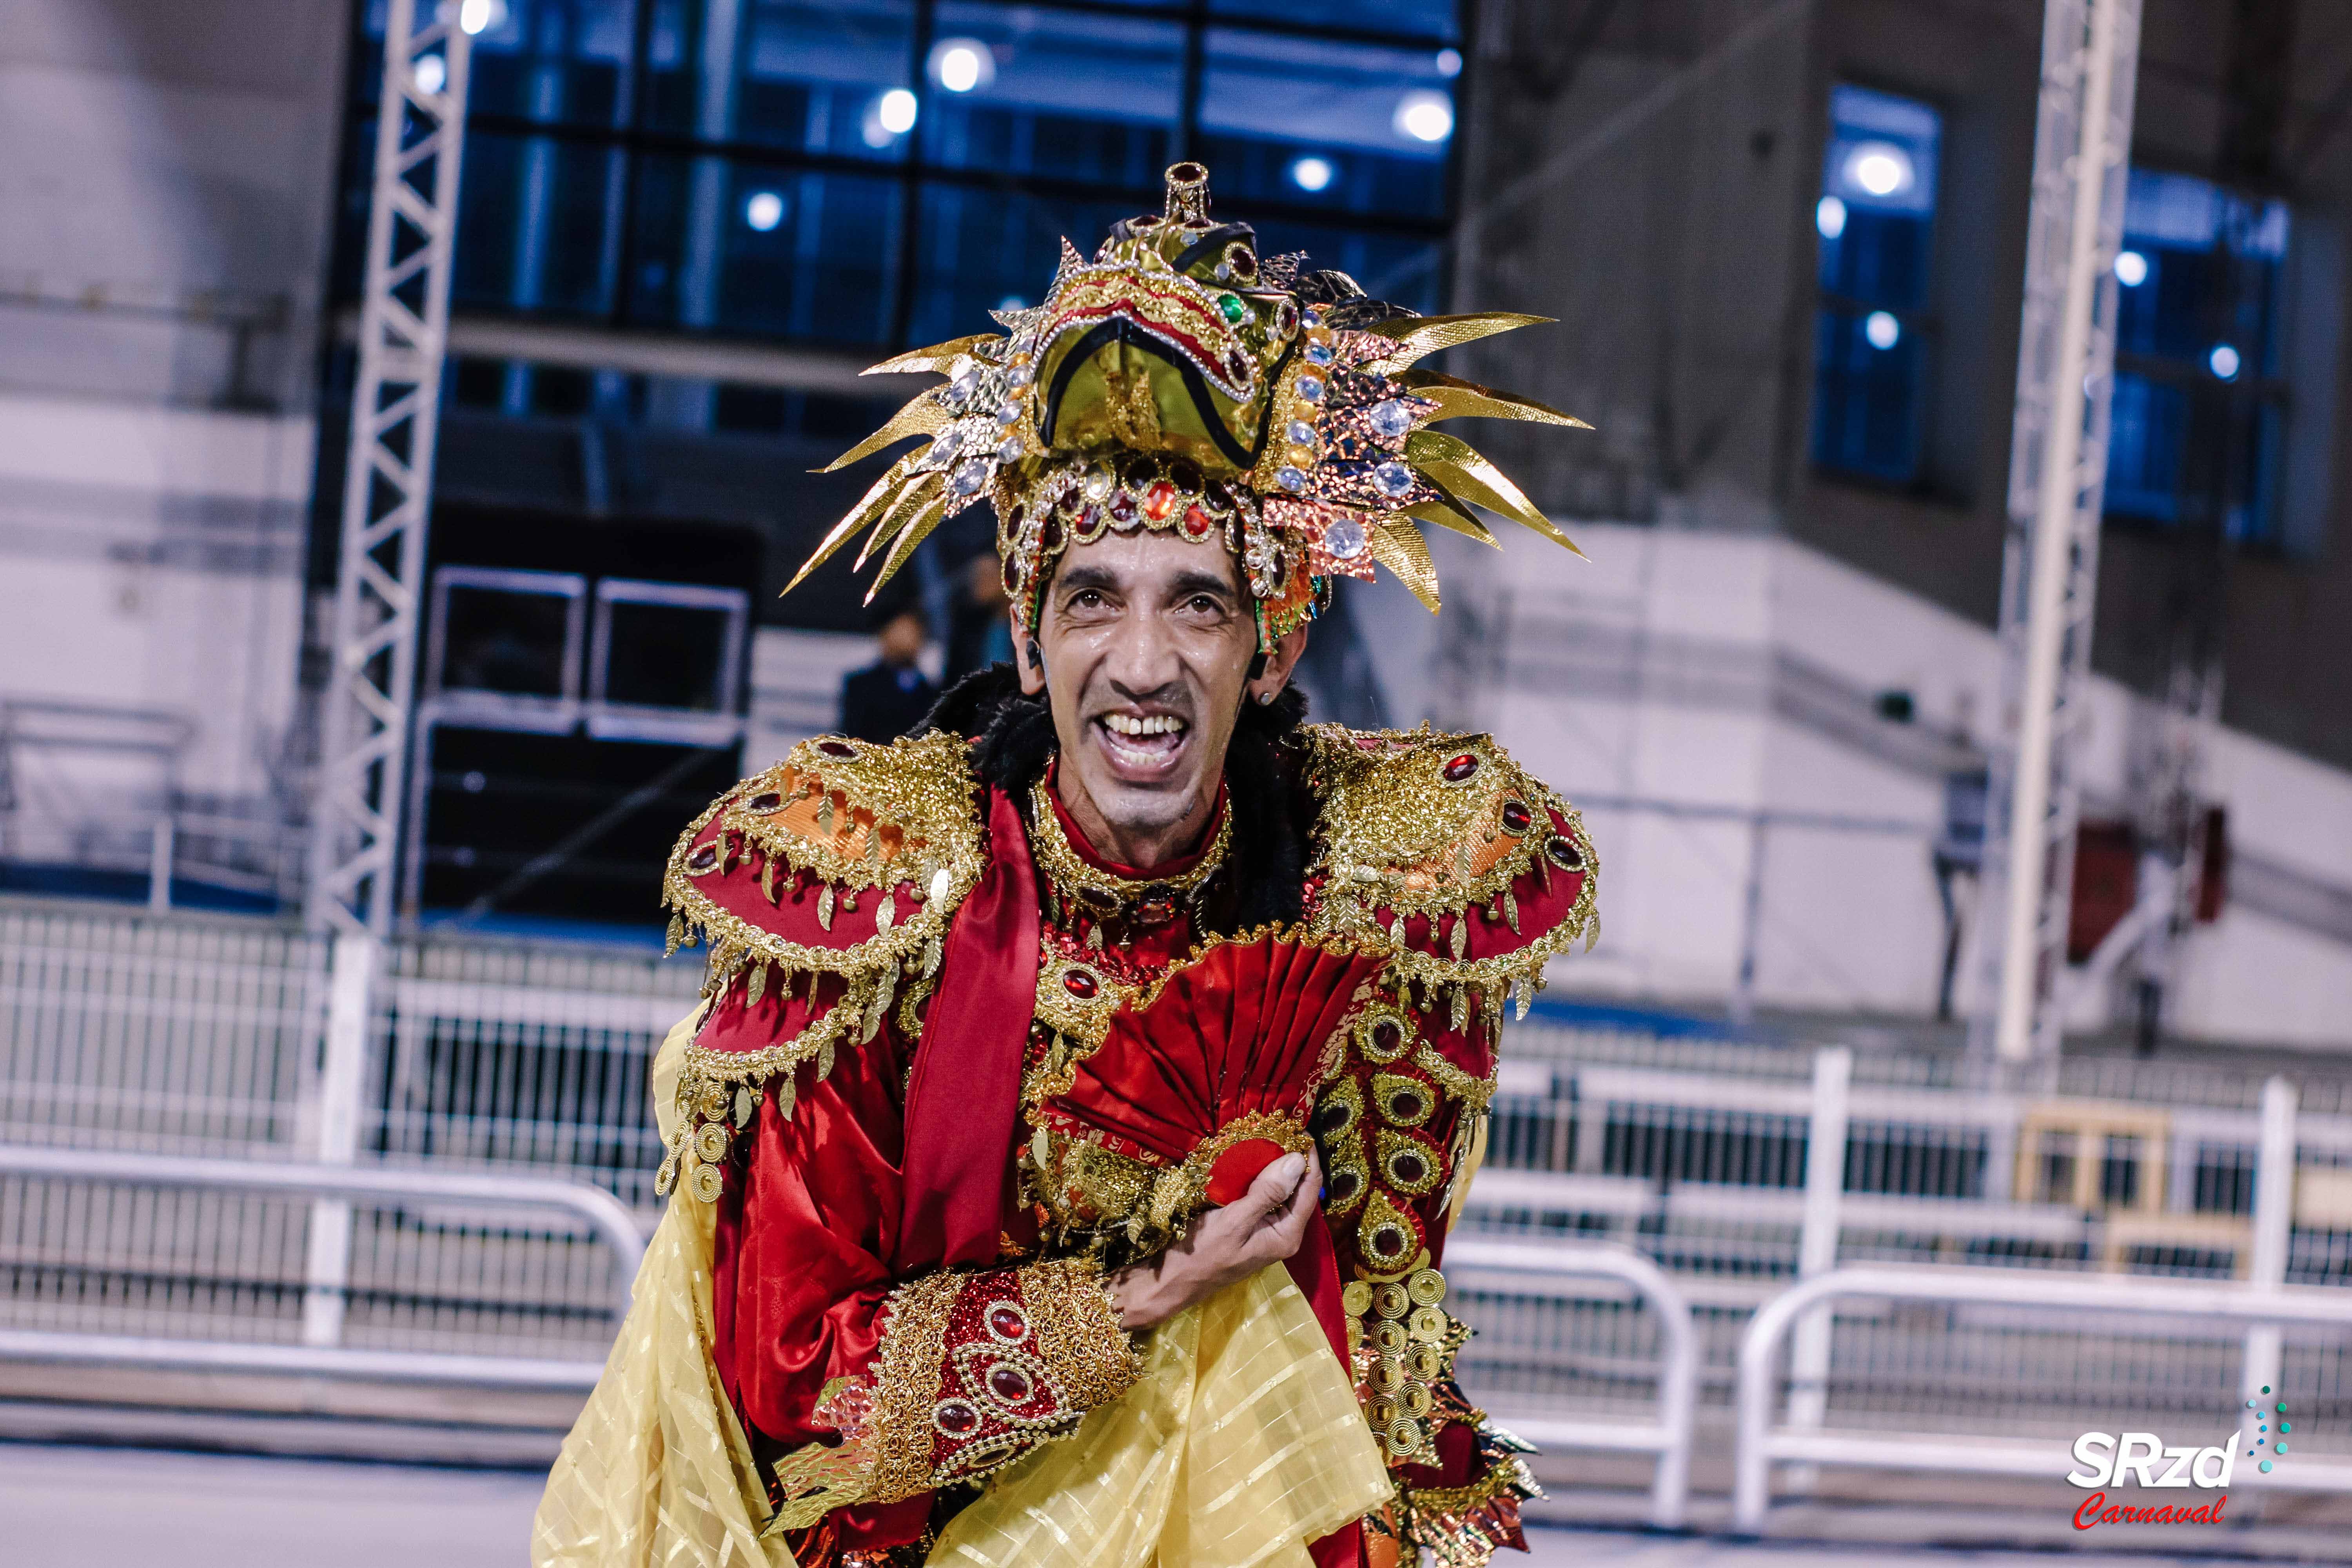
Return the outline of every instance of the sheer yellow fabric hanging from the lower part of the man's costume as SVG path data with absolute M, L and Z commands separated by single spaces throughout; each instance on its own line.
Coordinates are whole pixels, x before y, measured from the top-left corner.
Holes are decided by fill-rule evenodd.
M 670 1095 L 694 1020 L 654 1060 Z M 708 1204 L 673 1201 L 532 1521 L 532 1568 L 795 1568 L 710 1363 Z M 929 1561 L 955 1568 L 1305 1568 L 1388 1469 L 1331 1342 L 1275 1265 L 1152 1333 L 1143 1378 L 1004 1467 Z

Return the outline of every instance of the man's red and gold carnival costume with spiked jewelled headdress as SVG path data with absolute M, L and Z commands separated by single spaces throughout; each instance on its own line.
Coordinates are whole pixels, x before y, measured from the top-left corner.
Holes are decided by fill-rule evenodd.
M 1070 543 L 1176 531 L 1240 557 L 1268 651 L 1374 562 L 1435 609 L 1416 524 L 1491 543 L 1465 503 L 1569 543 L 1428 425 L 1578 421 L 1414 369 L 1534 317 L 1261 261 L 1197 165 L 1094 261 L 1063 249 L 1007 334 L 875 367 L 946 383 L 842 461 L 929 440 L 809 567 L 866 531 L 887 576 L 985 498 L 1018 642 Z M 891 745 L 807 741 L 677 842 L 670 943 L 708 943 L 710 983 L 654 1067 L 675 1197 L 534 1563 L 1519 1544 L 1524 1446 L 1454 1382 L 1439 1262 L 1505 1006 L 1595 931 L 1578 813 L 1484 736 L 1301 726 L 1284 693 L 1242 715 L 1200 851 L 1141 872 L 1087 844 L 1049 755 L 1007 762 L 1021 724 L 1051 736 L 1040 703 L 1002 675 L 955 703 Z M 1120 1328 L 1105 1272 L 1308 1147 L 1322 1222 L 1284 1267 Z

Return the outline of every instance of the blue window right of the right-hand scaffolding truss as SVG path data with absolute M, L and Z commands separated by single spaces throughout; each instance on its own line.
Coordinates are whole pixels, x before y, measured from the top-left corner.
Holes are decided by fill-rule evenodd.
M 2114 259 L 2107 512 L 2279 536 L 2284 202 L 2133 169 Z

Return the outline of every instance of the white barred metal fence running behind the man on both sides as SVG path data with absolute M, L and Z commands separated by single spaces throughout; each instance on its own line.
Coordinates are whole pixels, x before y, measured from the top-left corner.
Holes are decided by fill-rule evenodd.
M 374 961 L 367 1016 L 334 1030 L 343 957 L 289 924 L 0 898 L 0 1145 L 553 1178 L 652 1225 L 647 1070 L 696 1001 L 694 954 L 428 933 Z M 1470 1269 L 1489 1241 L 1625 1248 L 1689 1305 L 1696 1401 L 1717 1413 L 1752 1314 L 1837 1267 L 2352 1281 L 2338 1084 L 2067 1063 L 2060 1091 L 1978 1093 L 1924 1051 L 1531 1020 L 1505 1034 L 1454 1251 Z M 574 1363 L 612 1333 L 609 1272 L 579 1225 L 452 1194 L 0 1175 L 7 1333 Z M 1658 1309 L 1621 1281 L 1486 1286 L 1458 1286 L 1477 1399 L 1545 1422 L 1653 1420 Z M 2039 1432 L 2119 1408 L 2117 1389 L 2147 1420 L 2206 1420 L 2246 1354 L 2209 1319 L 1849 1305 L 1792 1333 L 1792 1425 Z M 2274 1380 L 2321 1425 L 2352 1413 L 2343 1338 L 2288 1333 Z

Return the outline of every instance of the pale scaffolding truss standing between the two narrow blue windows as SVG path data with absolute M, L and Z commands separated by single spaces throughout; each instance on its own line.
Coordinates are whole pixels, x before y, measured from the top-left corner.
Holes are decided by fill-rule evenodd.
M 2002 562 L 2004 703 L 1985 879 L 1971 922 L 1971 1044 L 2004 1074 L 2058 1056 L 2074 877 L 2074 731 L 2091 663 L 2098 522 L 2114 390 L 2140 0 L 2049 0 L 2025 242 L 2025 320 Z

